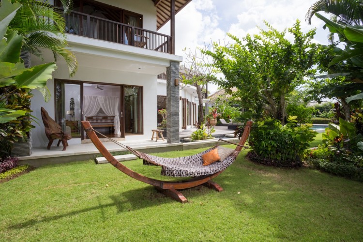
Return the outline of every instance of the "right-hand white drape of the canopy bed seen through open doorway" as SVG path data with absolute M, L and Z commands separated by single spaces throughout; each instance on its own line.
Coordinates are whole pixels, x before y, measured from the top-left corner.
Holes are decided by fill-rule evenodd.
M 115 126 L 115 135 L 121 135 L 120 117 L 119 117 L 119 97 L 96 96 L 98 104 L 107 116 L 115 116 L 113 124 Z

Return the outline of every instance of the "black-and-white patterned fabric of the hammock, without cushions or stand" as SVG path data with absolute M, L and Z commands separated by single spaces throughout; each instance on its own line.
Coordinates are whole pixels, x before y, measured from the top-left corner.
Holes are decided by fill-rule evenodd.
M 198 177 L 203 175 L 212 175 L 221 170 L 226 169 L 236 159 L 237 154 L 232 153 L 222 162 L 214 162 L 211 165 L 203 166 L 202 155 L 212 151 L 213 148 L 203 151 L 201 153 L 178 157 L 178 158 L 163 158 L 150 154 L 138 152 L 138 154 L 144 159 L 144 165 L 146 166 L 162 166 L 161 175 L 169 177 Z M 140 157 L 140 158 L 141 158 Z M 151 162 L 157 164 L 153 164 Z

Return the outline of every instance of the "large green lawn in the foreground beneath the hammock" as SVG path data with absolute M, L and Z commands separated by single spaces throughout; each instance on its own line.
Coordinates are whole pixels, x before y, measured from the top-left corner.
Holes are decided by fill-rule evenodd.
M 0 184 L 0 241 L 363 240 L 363 183 L 309 168 L 260 166 L 245 154 L 214 179 L 225 191 L 184 190 L 186 204 L 110 164 L 37 168 Z M 161 178 L 160 167 L 124 164 Z

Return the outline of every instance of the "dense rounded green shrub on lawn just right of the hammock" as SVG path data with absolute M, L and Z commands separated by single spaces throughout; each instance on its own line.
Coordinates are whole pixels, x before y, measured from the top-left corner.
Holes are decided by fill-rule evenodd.
M 317 132 L 311 124 L 297 124 L 297 117 L 289 116 L 286 125 L 272 118 L 257 121 L 251 130 L 248 157 L 257 163 L 272 166 L 301 166 L 300 156 L 309 148 Z

